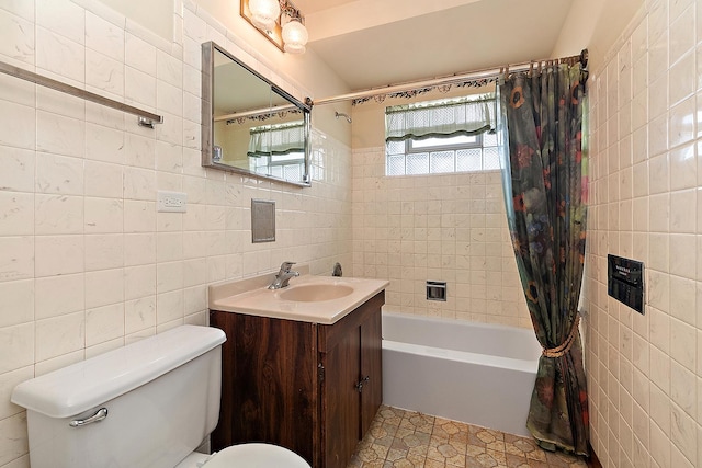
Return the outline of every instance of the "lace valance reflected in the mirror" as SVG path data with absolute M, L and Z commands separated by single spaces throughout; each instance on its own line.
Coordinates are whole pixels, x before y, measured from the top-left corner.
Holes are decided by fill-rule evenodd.
M 249 130 L 249 135 L 247 156 L 253 158 L 305 151 L 305 126 L 303 122 L 253 127 Z

